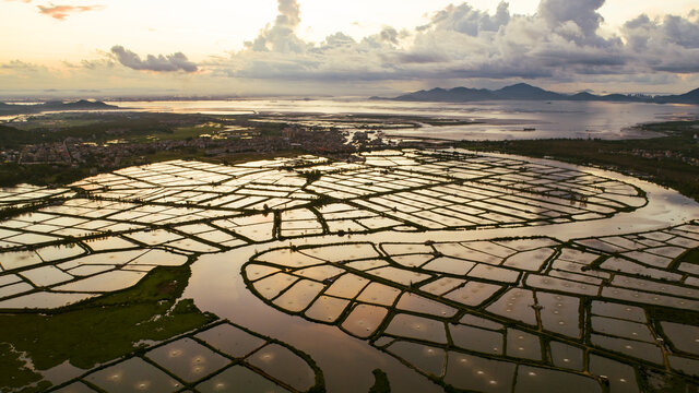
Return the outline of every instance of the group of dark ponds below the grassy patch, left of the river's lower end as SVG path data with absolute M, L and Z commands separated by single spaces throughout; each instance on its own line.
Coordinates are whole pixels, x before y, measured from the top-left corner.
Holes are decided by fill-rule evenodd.
M 323 386 L 322 372 L 297 349 L 230 323 L 218 323 L 80 379 L 58 392 L 80 392 L 85 382 L 106 392 L 305 392 Z M 93 390 L 86 389 L 92 392 Z

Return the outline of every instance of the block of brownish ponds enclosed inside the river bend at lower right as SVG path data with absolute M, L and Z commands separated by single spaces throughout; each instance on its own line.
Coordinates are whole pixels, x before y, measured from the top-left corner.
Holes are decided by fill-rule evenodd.
M 638 239 L 654 240 L 648 245 L 635 241 Z M 609 383 L 608 376 L 594 374 L 585 365 L 606 362 L 612 369 L 624 369 L 625 366 L 615 360 L 621 356 L 635 371 L 631 377 L 625 372 L 626 377 L 618 378 L 615 384 L 624 383 L 638 390 L 643 386 L 642 382 L 639 384 L 643 372 L 660 372 L 666 383 L 680 384 L 688 383 L 685 376 L 696 376 L 692 348 L 699 342 L 696 326 L 699 291 L 694 288 L 694 281 L 682 284 L 694 277 L 676 273 L 679 262 L 687 260 L 685 255 L 694 252 L 696 239 L 699 239 L 699 225 L 689 224 L 594 238 L 594 242 L 529 238 L 303 246 L 254 255 L 242 266 L 242 273 L 248 288 L 270 306 L 311 321 L 334 324 L 445 386 L 488 392 L 540 386 L 540 390 L 556 392 L 566 381 L 577 380 L 581 391 L 601 392 Z M 679 243 L 686 247 L 668 246 Z M 614 248 L 609 249 L 608 245 Z M 357 254 L 357 249 L 365 251 Z M 462 250 L 483 251 L 463 253 Z M 499 260 L 484 258 L 486 250 L 497 252 Z M 625 261 L 631 262 L 632 255 L 637 258 L 633 263 L 643 265 L 652 261 L 647 254 L 671 251 L 675 255 L 672 263 L 654 269 L 676 275 L 676 284 L 632 271 L 618 271 L 600 262 L 621 254 Z M 312 267 L 297 266 L 294 254 L 315 255 L 317 260 L 308 260 Z M 406 263 L 401 259 L 404 255 L 414 258 Z M 423 258 L 415 258 L 417 255 Z M 451 264 L 437 269 L 430 261 L 443 258 L 441 255 L 469 263 L 469 272 L 454 272 Z M 363 258 L 382 260 L 389 266 L 369 264 L 364 270 L 355 269 Z M 280 282 L 273 294 L 258 291 L 256 279 L 247 276 L 247 272 L 259 265 L 284 270 L 287 284 Z M 481 266 L 505 271 L 498 265 L 517 272 L 514 278 L 497 271 L 493 275 L 471 274 Z M 308 275 L 313 269 L 322 267 L 334 269 L 327 270 L 328 275 Z M 425 274 L 428 267 L 430 274 Z M 391 274 L 383 274 L 387 269 L 393 270 Z M 467 278 L 463 279 L 464 276 Z M 289 286 L 288 283 L 297 281 L 316 285 Z M 299 294 L 303 290 L 305 295 Z M 289 291 L 303 301 L 292 307 L 277 301 Z M 331 317 L 318 318 L 318 309 L 329 309 L 328 305 L 335 305 Z M 663 309 L 655 308 L 656 305 Z M 687 321 L 694 322 L 687 324 Z M 666 343 L 682 344 L 671 349 Z M 588 358 L 591 353 L 597 355 L 594 361 Z M 668 355 L 674 366 L 666 370 L 664 359 Z M 446 371 L 441 366 L 445 361 Z M 510 365 L 509 371 L 505 365 Z M 462 366 L 471 371 L 461 369 Z M 487 371 L 488 368 L 491 371 Z M 483 378 L 463 378 L 470 372 Z M 633 377 L 635 373 L 638 377 Z

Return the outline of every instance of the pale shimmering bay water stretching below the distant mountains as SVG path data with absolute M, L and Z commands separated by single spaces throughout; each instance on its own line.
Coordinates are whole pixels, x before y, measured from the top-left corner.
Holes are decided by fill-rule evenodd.
M 428 126 L 386 130 L 387 134 L 449 140 L 569 138 L 624 140 L 652 138 L 633 126 L 695 119 L 696 105 L 585 102 L 400 103 L 366 99 L 235 99 L 118 102 L 123 108 L 209 115 L 315 115 L 329 122 L 353 116 L 425 117 L 473 121 L 466 126 Z M 418 121 L 419 122 L 419 121 Z M 525 131 L 526 130 L 526 131 Z

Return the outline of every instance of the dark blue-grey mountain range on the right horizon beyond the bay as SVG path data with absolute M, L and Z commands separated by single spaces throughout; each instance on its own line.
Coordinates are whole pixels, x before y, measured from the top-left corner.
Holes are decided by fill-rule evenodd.
M 394 98 L 371 97 L 401 102 L 467 103 L 483 100 L 578 100 L 616 103 L 656 103 L 656 104 L 699 104 L 699 88 L 682 95 L 649 96 L 638 94 L 594 95 L 590 93 L 561 94 L 549 92 L 526 83 L 491 91 L 487 88 L 455 87 L 451 90 L 433 88 L 408 93 Z

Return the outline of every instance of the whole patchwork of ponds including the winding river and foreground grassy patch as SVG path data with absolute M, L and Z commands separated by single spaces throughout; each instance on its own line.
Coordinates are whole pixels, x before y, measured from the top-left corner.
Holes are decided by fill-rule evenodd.
M 460 150 L 0 190 L 2 392 L 699 388 L 699 205 Z

